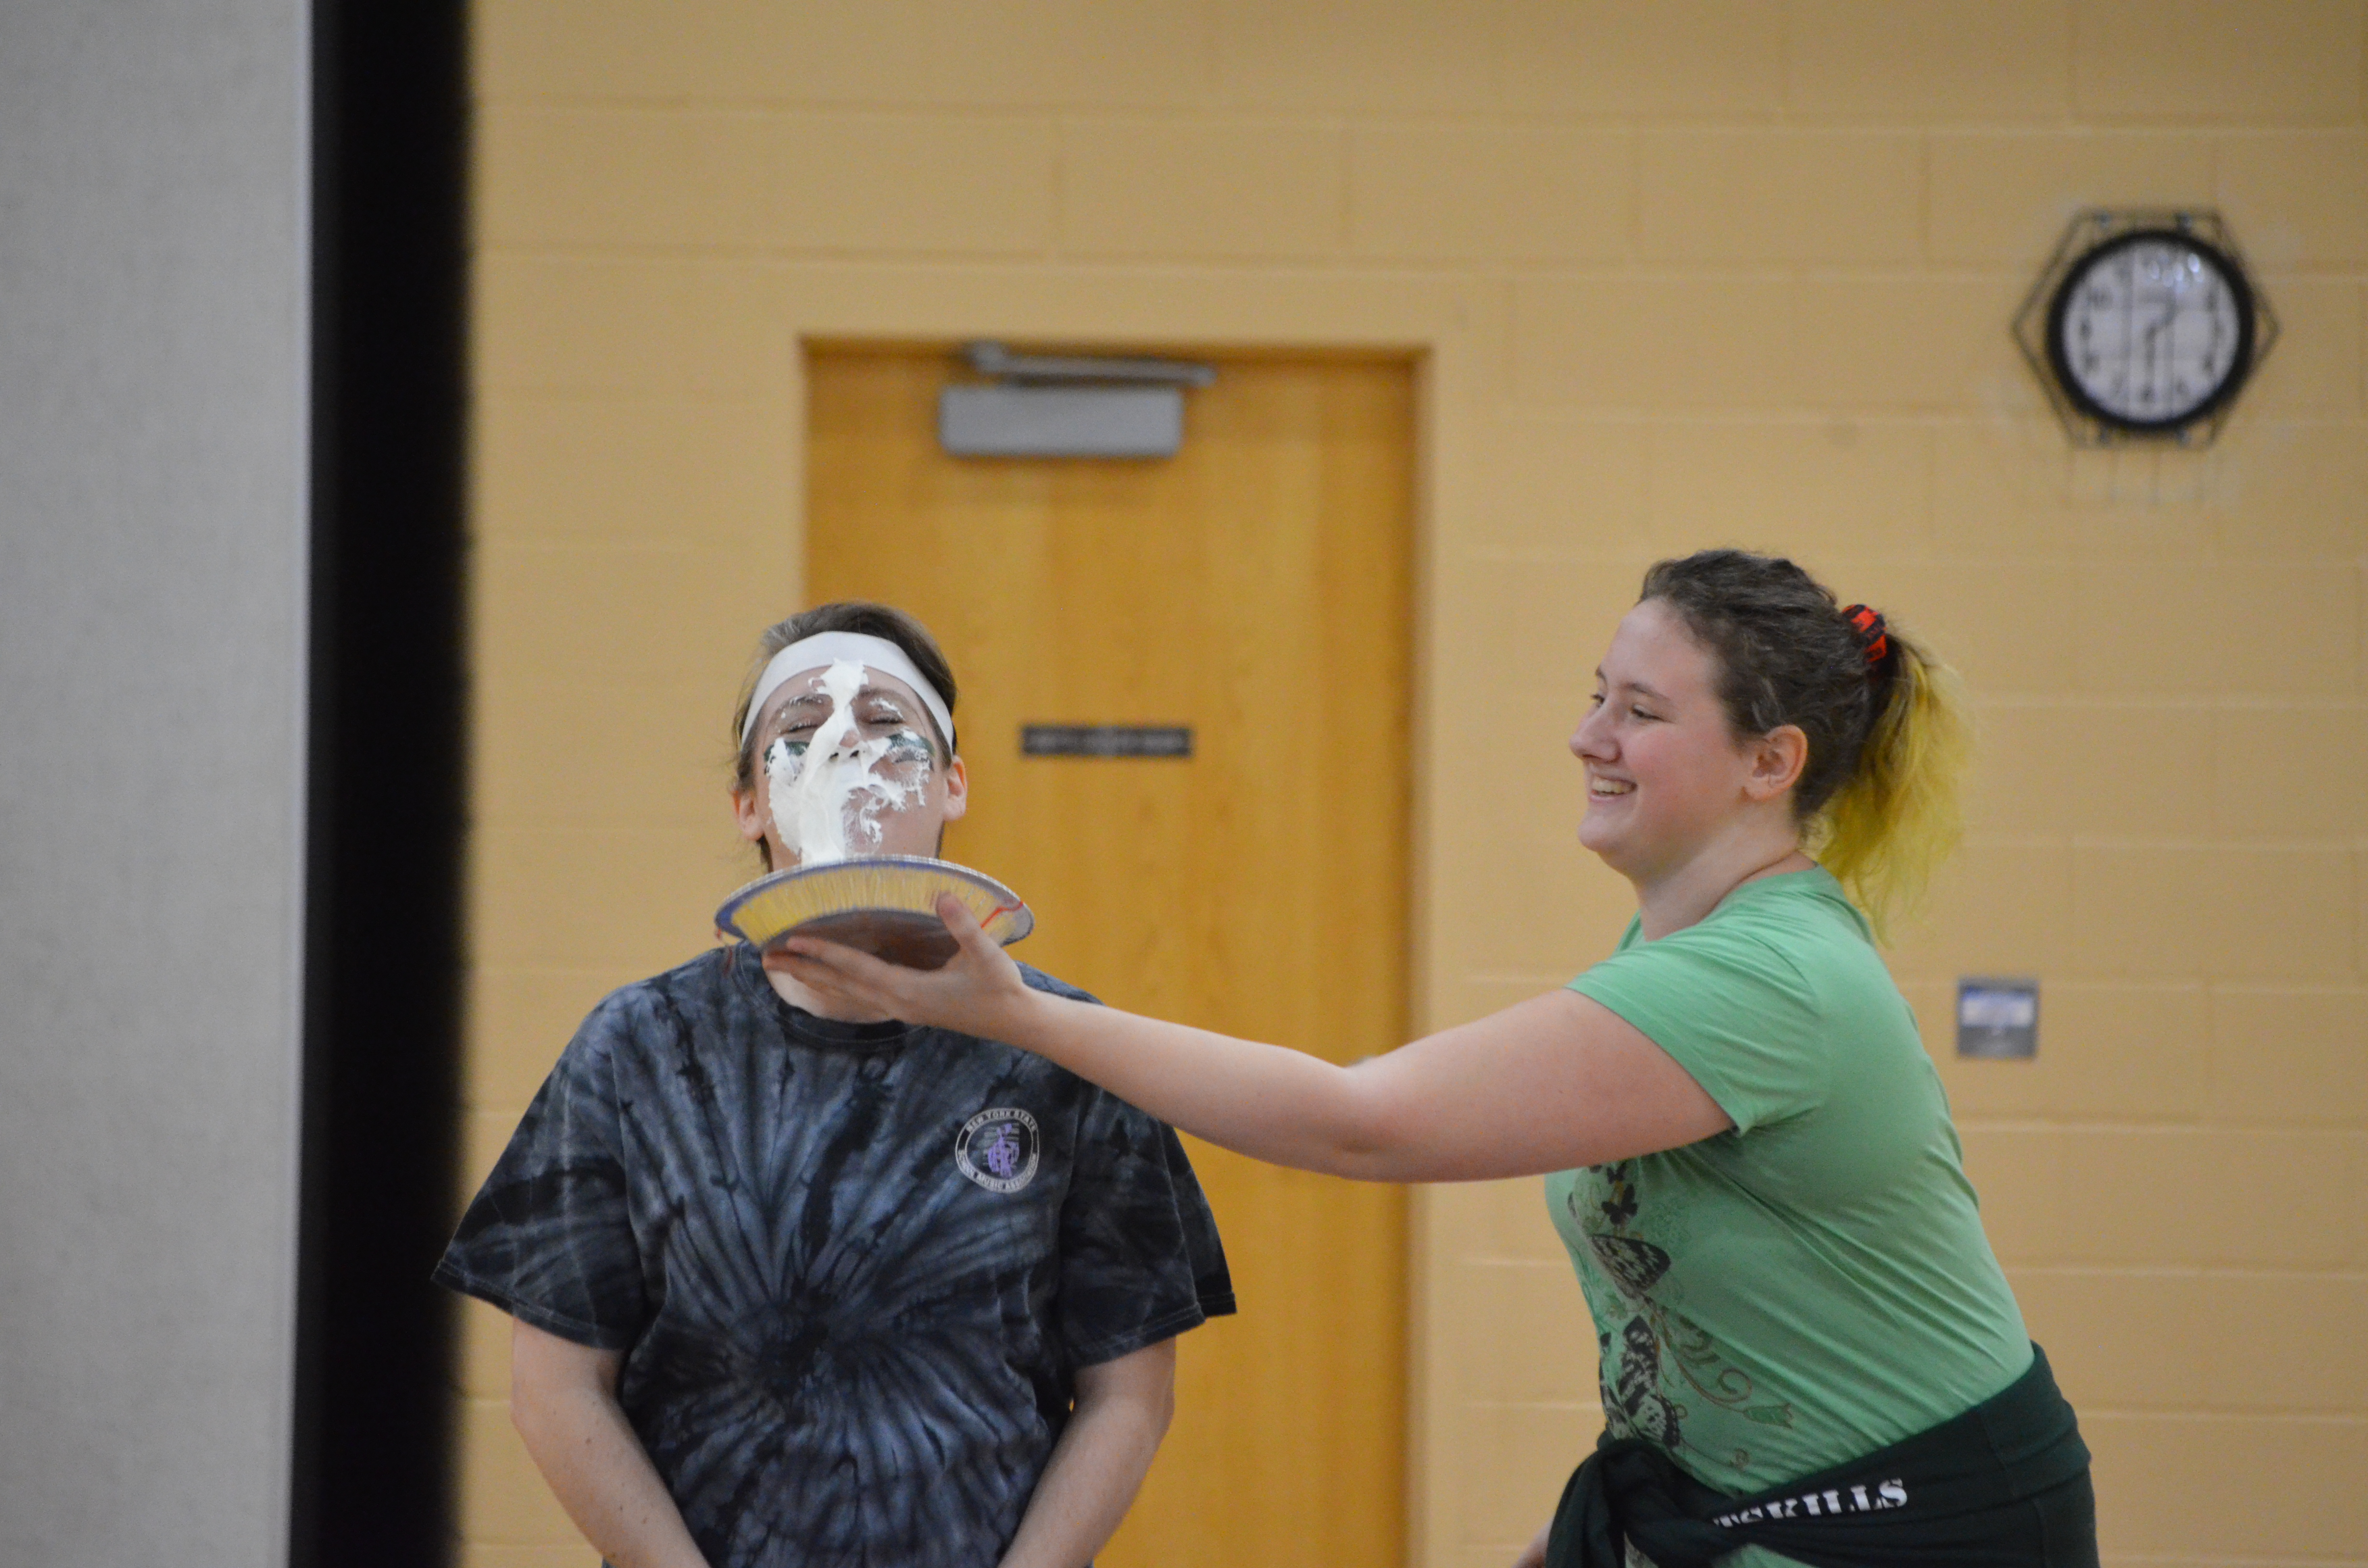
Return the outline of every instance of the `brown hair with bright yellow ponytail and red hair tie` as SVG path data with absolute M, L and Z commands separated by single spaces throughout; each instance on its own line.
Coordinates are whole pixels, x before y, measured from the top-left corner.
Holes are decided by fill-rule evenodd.
M 1970 725 L 1956 675 L 1885 618 L 1845 613 L 1783 557 L 1700 550 L 1655 561 L 1643 599 L 1674 609 L 1717 661 L 1736 734 L 1797 725 L 1809 739 L 1793 786 L 1804 848 L 1883 931 L 1961 836 Z

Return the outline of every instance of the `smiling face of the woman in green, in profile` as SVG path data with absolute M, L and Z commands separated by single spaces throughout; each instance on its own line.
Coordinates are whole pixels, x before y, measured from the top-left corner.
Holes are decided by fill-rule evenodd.
M 1788 810 L 1800 732 L 1736 737 L 1717 675 L 1710 649 L 1658 599 L 1622 616 L 1596 670 L 1591 708 L 1570 737 L 1587 765 L 1579 843 L 1629 881 L 1662 881 L 1757 827 L 1771 803 Z

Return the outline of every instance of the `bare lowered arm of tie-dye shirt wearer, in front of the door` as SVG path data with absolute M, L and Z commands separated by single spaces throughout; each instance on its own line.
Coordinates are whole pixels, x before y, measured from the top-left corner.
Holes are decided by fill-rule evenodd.
M 1061 1428 L 1002 1568 L 1085 1568 L 1118 1530 L 1177 1407 L 1177 1343 L 1077 1369 Z

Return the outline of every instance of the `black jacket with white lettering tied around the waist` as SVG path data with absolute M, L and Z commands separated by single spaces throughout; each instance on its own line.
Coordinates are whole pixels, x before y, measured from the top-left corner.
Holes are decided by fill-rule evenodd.
M 1712 1568 L 1767 1547 L 1812 1568 L 2096 1568 L 2089 1445 L 2048 1357 L 1961 1416 L 1752 1497 L 1636 1438 L 1596 1442 L 1563 1487 L 1546 1568 Z

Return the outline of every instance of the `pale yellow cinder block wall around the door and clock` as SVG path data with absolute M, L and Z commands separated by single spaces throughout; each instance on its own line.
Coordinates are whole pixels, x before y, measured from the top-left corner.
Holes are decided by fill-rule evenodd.
M 1894 955 L 2112 1563 L 2368 1563 L 2368 5 L 478 0 L 466 1180 L 706 940 L 800 341 L 1423 355 L 1426 1023 L 1624 888 L 1561 741 L 1641 566 L 1800 554 L 1965 670 L 1975 831 Z M 2285 336 L 2219 445 L 2074 452 L 2008 341 L 2067 216 L 2212 204 Z M 1485 805 L 1478 805 L 1485 803 Z M 2036 1063 L 1956 1063 L 1958 973 Z M 1414 1554 L 1591 1440 L 1534 1184 L 1423 1194 Z M 592 1561 L 469 1310 L 462 1561 Z

